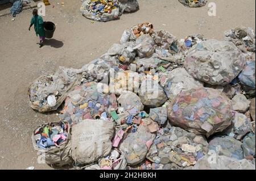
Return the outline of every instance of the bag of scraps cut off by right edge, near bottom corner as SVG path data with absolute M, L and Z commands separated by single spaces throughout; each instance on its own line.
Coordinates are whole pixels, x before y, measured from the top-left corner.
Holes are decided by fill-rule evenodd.
M 243 155 L 246 159 L 255 159 L 255 134 L 249 133 L 243 138 Z

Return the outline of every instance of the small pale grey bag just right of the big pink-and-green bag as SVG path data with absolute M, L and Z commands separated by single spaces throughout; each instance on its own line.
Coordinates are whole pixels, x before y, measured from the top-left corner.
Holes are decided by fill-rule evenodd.
M 231 100 L 232 109 L 238 112 L 246 112 L 250 107 L 250 100 L 246 99 L 245 95 L 237 94 Z

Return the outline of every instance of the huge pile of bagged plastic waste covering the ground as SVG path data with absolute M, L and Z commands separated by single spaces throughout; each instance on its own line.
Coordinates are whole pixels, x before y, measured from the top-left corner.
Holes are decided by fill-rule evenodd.
M 35 110 L 61 110 L 60 123 L 32 135 L 50 165 L 255 169 L 255 50 L 233 41 L 177 39 L 140 23 L 101 57 L 43 75 L 28 92 Z

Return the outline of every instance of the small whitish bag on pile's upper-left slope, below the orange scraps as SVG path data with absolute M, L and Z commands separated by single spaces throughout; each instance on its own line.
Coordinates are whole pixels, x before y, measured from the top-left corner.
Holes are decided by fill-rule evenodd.
M 127 42 L 125 44 L 113 44 L 109 48 L 108 52 L 104 56 L 115 56 L 123 64 L 129 64 L 134 60 L 137 52 L 135 49 L 135 43 Z

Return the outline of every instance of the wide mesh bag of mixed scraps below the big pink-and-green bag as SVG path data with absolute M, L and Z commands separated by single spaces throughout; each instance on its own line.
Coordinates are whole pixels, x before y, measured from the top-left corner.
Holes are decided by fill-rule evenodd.
M 147 159 L 155 163 L 175 163 L 179 167 L 195 165 L 208 153 L 208 143 L 203 136 L 189 133 L 179 127 L 163 128 L 147 153 Z

